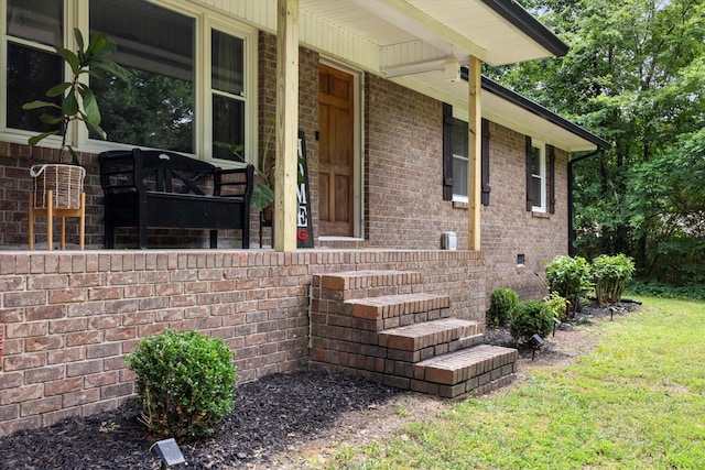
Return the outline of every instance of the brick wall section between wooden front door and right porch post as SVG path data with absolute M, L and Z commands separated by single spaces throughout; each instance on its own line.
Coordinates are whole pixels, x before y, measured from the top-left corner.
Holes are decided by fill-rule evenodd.
M 440 249 L 454 231 L 467 249 L 467 211 L 443 200 L 443 105 L 368 75 L 365 223 L 370 247 Z

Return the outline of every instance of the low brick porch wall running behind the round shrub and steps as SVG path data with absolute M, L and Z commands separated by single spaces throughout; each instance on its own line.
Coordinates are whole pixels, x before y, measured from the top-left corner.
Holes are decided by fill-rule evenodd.
M 0 253 L 0 436 L 115 408 L 134 395 L 123 356 L 165 328 L 224 338 L 240 382 L 305 368 L 314 274 L 420 271 L 453 315 L 482 320 L 468 251 Z

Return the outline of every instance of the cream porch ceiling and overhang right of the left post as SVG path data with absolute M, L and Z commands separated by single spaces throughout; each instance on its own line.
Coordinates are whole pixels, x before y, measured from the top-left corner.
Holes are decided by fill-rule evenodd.
M 564 54 L 567 47 L 518 3 L 501 0 L 301 0 L 300 9 L 379 51 L 379 70 L 454 54 L 491 65 Z

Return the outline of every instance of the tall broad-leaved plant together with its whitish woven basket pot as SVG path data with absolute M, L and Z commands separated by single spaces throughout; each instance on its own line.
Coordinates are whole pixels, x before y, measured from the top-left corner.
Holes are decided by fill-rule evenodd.
M 34 207 L 47 206 L 46 192 L 52 190 L 53 207 L 59 209 L 75 209 L 80 206 L 86 170 L 79 165 L 76 151 L 66 143 L 68 127 L 74 121 L 83 122 L 91 134 L 106 140 L 106 132 L 100 128 L 100 111 L 96 97 L 90 87 L 80 81 L 84 74 L 100 76 L 107 73 L 121 79 L 127 79 L 127 72 L 115 62 L 107 58 L 116 51 L 117 45 L 102 33 L 96 33 L 86 45 L 78 29 L 74 30 L 78 51 L 76 53 L 55 46 L 56 53 L 70 67 L 72 79 L 53 86 L 46 91 L 48 98 L 62 97 L 61 106 L 52 101 L 35 100 L 22 106 L 25 110 L 37 108 L 53 108 L 54 111 L 41 116 L 42 122 L 58 125 L 58 129 L 42 132 L 28 140 L 30 145 L 36 145 L 50 135 L 61 135 L 58 162 L 55 164 L 34 165 L 30 174 L 34 178 Z M 64 164 L 70 155 L 70 164 Z

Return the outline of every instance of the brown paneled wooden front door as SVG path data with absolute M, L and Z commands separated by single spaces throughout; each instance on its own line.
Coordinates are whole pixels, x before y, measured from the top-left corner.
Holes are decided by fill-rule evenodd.
M 351 237 L 354 221 L 354 79 L 352 75 L 319 66 L 319 203 L 322 236 Z

